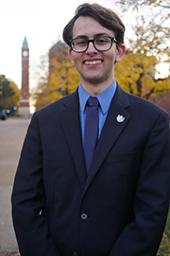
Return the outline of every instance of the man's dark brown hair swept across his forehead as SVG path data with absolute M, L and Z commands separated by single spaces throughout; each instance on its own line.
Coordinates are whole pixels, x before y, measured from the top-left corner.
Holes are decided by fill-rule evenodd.
M 75 16 L 63 29 L 62 37 L 68 46 L 70 46 L 70 39 L 73 38 L 73 27 L 79 16 L 93 18 L 101 26 L 113 31 L 118 45 L 124 43 L 124 34 L 126 28 L 119 16 L 111 9 L 106 9 L 98 4 L 85 3 L 76 9 Z

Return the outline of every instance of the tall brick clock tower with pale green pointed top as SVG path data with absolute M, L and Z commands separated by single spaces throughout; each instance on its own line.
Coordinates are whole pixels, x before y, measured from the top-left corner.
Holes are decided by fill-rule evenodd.
M 19 115 L 22 118 L 30 117 L 29 109 L 29 48 L 27 40 L 23 42 L 22 47 L 22 88 L 20 96 Z

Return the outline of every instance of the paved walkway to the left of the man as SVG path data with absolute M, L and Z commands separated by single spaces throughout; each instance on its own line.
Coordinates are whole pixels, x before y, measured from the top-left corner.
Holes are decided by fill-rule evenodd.
M 29 119 L 0 120 L 0 256 L 18 255 L 10 195 Z

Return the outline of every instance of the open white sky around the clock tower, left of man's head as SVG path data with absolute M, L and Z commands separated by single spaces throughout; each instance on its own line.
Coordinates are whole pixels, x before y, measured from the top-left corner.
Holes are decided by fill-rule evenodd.
M 35 86 L 32 66 L 62 40 L 62 29 L 86 0 L 0 0 L 0 75 L 21 88 L 21 48 L 29 46 L 29 85 Z M 112 0 L 94 0 L 112 9 Z M 115 10 L 115 9 L 114 9 Z

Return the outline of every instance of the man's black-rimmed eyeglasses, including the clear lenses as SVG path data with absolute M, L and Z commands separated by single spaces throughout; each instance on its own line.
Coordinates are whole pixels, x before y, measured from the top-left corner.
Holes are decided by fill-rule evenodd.
M 93 40 L 88 40 L 87 38 L 83 37 L 76 37 L 70 40 L 70 46 L 75 52 L 84 52 L 88 49 L 91 42 L 96 50 L 107 51 L 112 46 L 112 42 L 117 43 L 117 40 L 110 36 L 98 36 Z

